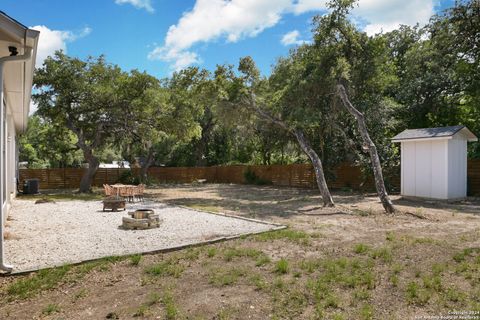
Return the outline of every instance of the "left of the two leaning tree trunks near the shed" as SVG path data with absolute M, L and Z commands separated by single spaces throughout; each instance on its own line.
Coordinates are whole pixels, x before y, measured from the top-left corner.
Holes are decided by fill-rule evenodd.
M 313 168 L 315 170 L 315 177 L 317 179 L 317 186 L 320 190 L 323 199 L 323 205 L 326 207 L 333 207 L 335 203 L 333 202 L 332 195 L 330 194 L 330 190 L 327 186 L 327 181 L 325 180 L 325 175 L 323 174 L 323 165 L 320 157 L 312 149 L 310 143 L 308 142 L 305 134 L 300 129 L 295 129 L 292 131 L 295 138 L 297 138 L 300 147 L 302 148 L 303 152 L 310 158 L 312 161 Z

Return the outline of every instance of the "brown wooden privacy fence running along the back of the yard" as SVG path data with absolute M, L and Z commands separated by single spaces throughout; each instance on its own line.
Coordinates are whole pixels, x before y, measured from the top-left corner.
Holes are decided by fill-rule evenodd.
M 25 179 L 37 178 L 41 189 L 78 188 L 83 168 L 65 169 L 20 169 L 20 183 Z M 95 174 L 94 186 L 114 184 L 119 181 L 123 172 L 130 169 L 98 169 Z M 210 183 L 245 183 L 244 174 L 251 170 L 256 176 L 271 182 L 275 186 L 290 186 L 315 188 L 315 173 L 310 164 L 291 165 L 232 165 L 214 167 L 154 167 L 148 170 L 148 175 L 159 182 L 191 183 L 196 180 L 206 180 Z M 139 169 L 132 169 L 138 175 Z M 387 176 L 387 186 L 399 190 L 399 170 L 393 176 Z M 327 177 L 332 189 L 373 189 L 373 177 L 365 176 L 358 166 L 341 164 Z M 480 194 L 480 159 L 468 161 L 468 183 L 471 194 Z

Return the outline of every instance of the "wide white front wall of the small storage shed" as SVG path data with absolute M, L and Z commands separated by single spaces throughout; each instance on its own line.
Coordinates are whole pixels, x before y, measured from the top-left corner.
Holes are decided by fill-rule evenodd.
M 402 195 L 433 199 L 447 199 L 447 147 L 447 140 L 402 142 Z

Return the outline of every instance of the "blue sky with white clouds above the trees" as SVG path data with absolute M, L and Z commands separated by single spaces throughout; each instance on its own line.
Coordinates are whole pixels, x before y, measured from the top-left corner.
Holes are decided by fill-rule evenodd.
M 360 0 L 353 12 L 367 33 L 425 24 L 454 0 Z M 324 0 L 2 0 L 0 10 L 41 31 L 37 65 L 57 49 L 105 54 L 125 70 L 166 77 L 188 65 L 213 70 L 250 55 L 264 74 L 311 38 Z

